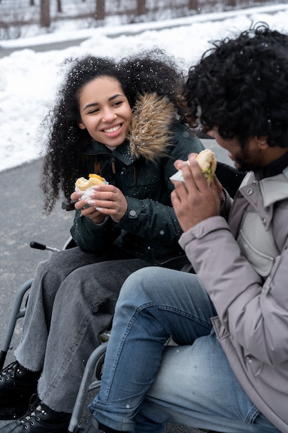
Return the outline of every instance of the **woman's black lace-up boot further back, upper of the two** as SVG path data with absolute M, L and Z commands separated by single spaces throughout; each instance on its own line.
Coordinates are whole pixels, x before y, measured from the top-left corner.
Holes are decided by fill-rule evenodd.
M 39 377 L 39 371 L 29 371 L 17 361 L 0 371 L 0 419 L 19 418 L 27 412 Z

